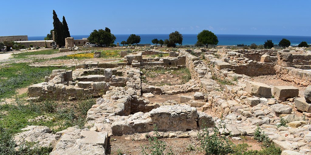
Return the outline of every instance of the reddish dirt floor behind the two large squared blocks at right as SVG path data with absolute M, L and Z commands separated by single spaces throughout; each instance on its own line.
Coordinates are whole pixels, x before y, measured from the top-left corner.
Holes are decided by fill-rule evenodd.
M 304 86 L 299 86 L 295 83 L 278 79 L 276 78 L 275 75 L 263 75 L 263 76 L 258 76 L 258 77 L 252 77 L 251 81 L 261 82 L 261 83 L 265 83 L 271 86 L 294 86 L 299 89 L 300 97 L 304 96 L 304 90 L 306 89 L 306 87 Z

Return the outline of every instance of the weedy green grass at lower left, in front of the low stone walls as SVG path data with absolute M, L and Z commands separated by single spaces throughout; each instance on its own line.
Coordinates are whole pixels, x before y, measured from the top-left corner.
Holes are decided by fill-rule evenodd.
M 71 126 L 83 126 L 86 113 L 94 104 L 95 99 L 75 102 L 45 100 L 28 104 L 17 99 L 14 105 L 0 105 L 0 124 L 12 134 L 27 125 L 48 126 L 56 133 Z

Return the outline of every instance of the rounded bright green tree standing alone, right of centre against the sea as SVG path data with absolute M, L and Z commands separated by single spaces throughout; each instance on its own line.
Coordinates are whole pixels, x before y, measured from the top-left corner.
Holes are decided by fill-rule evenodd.
M 217 36 L 208 30 L 203 30 L 197 35 L 197 41 L 201 42 L 202 44 L 206 45 L 206 48 L 208 44 L 217 45 L 218 44 L 218 38 Z

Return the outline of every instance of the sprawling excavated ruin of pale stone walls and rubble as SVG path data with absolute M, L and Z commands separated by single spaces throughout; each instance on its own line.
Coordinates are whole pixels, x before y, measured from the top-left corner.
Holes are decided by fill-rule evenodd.
M 169 57 L 143 56 L 160 53 Z M 83 127 L 51 134 L 45 127 L 30 126 L 30 131 L 16 135 L 16 139 L 25 134 L 49 135 L 44 142 L 53 145 L 52 155 L 105 154 L 110 135 L 139 135 L 151 132 L 156 125 L 164 138 L 185 138 L 197 136 L 202 127 L 217 125 L 224 116 L 227 128 L 220 130 L 221 134 L 252 136 L 258 125 L 284 152 L 311 154 L 311 125 L 296 115 L 311 117 L 310 51 L 291 47 L 281 51 L 202 48 L 120 54 L 124 58 L 121 63 L 77 64 L 74 71 L 53 70 L 45 82 L 28 88 L 30 100 L 97 97 Z M 192 78 L 185 84 L 152 86 L 142 82 L 142 68 L 184 67 Z M 276 75 L 297 86 L 307 86 L 304 96 L 299 96 L 295 86 L 251 81 L 250 76 L 261 75 Z M 217 79 L 232 84 L 220 85 Z M 195 94 L 183 95 L 188 92 Z M 180 100 L 152 103 L 146 96 L 153 94 L 180 94 Z M 281 117 L 289 127 L 276 126 Z M 43 144 L 40 139 L 29 140 Z

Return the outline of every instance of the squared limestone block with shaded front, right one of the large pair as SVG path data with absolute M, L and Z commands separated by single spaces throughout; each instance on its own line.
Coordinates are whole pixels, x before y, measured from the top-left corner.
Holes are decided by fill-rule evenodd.
M 299 89 L 294 86 L 275 86 L 273 95 L 277 100 L 285 101 L 288 98 L 297 97 Z

